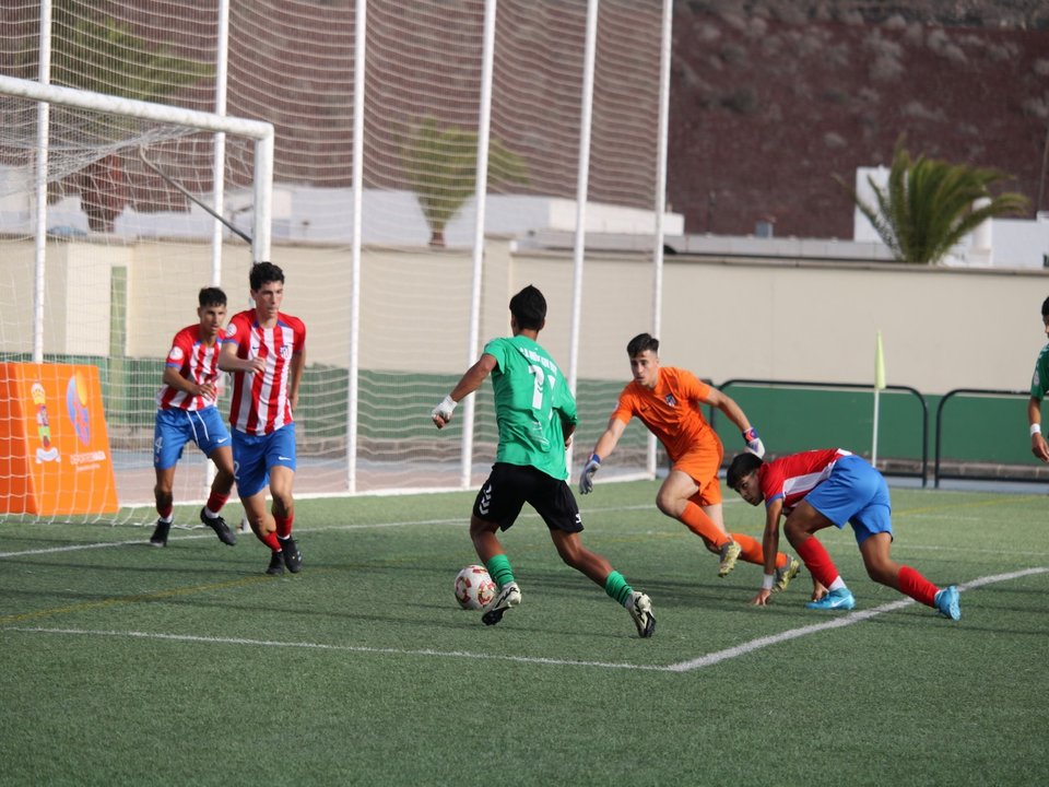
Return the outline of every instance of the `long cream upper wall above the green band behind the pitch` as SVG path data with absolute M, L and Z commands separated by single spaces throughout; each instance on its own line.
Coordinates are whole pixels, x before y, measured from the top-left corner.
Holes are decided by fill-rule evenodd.
M 492 238 L 488 244 L 481 342 L 508 332 L 509 296 L 533 283 L 550 304 L 542 340 L 567 367 L 570 251 L 515 252 L 510 240 Z M 105 352 L 109 290 L 108 279 L 97 273 L 126 265 L 132 298 L 128 352 L 162 357 L 174 331 L 192 321 L 197 289 L 210 271 L 207 244 L 166 246 L 158 252 L 149 244 L 52 242 L 48 251 L 52 290 L 47 310 L 54 332 L 47 334 L 47 352 L 63 346 L 67 352 Z M 235 312 L 247 305 L 250 258 L 243 246 L 231 247 L 225 258 L 223 286 Z M 345 366 L 349 250 L 278 244 L 273 260 L 288 275 L 285 309 L 309 328 L 310 362 Z M 4 245 L 0 277 L 15 289 L 5 303 L 32 303 L 31 261 L 31 242 Z M 7 275 L 15 265 L 21 273 Z M 360 365 L 461 373 L 468 365 L 469 252 L 368 248 L 363 266 Z M 89 269 L 95 271 L 90 279 L 83 275 Z M 1049 272 L 1044 270 L 676 255 L 667 258 L 663 279 L 663 362 L 716 383 L 746 377 L 868 384 L 881 330 L 892 385 L 924 393 L 1026 389 L 1035 356 L 1046 343 L 1040 306 L 1049 296 Z M 626 343 L 655 325 L 652 280 L 647 255 L 588 254 L 580 378 L 627 379 Z M 160 302 L 166 312 L 158 310 Z M 30 349 L 27 327 L 27 320 L 4 320 L 0 350 Z M 89 346 L 92 341 L 97 346 Z

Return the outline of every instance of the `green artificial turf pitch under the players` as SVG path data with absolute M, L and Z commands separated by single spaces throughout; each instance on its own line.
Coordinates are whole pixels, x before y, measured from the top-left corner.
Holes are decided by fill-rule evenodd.
M 1045 497 L 893 490 L 893 555 L 963 587 L 951 622 L 867 578 L 848 529 L 822 540 L 852 615 L 805 610 L 804 572 L 751 607 L 759 569 L 719 579 L 656 490 L 580 498 L 651 639 L 530 513 L 502 536 L 522 604 L 459 610 L 472 493 L 298 501 L 281 578 L 250 533 L 149 547 L 144 509 L 0 524 L 0 785 L 1049 782 Z M 761 535 L 734 497 L 726 519 Z

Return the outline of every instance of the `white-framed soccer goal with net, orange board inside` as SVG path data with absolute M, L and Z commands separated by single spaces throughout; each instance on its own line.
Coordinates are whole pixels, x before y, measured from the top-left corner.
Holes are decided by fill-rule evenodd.
M 172 337 L 203 286 L 247 306 L 272 179 L 268 122 L 0 77 L 0 516 L 152 501 Z M 176 500 L 208 474 L 187 450 Z

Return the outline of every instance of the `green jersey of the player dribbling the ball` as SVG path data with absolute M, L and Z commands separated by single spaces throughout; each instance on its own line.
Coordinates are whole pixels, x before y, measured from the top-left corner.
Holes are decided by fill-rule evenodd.
M 526 336 L 493 339 L 484 352 L 496 361 L 492 372 L 499 426 L 495 460 L 530 465 L 552 478 L 567 479 L 565 426 L 575 426 L 578 416 L 561 368 Z

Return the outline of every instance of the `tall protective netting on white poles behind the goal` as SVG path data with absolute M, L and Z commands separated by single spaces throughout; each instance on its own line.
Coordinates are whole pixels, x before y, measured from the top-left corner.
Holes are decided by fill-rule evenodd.
M 0 73 L 35 77 L 38 7 L 16 3 L 0 31 Z M 222 95 L 229 115 L 274 129 L 271 218 L 260 222 L 258 143 L 244 130 L 50 102 L 44 143 L 38 102 L 3 99 L 0 254 L 12 265 L 0 269 L 0 353 L 30 359 L 42 339 L 46 360 L 98 367 L 122 506 L 152 502 L 153 395 L 174 332 L 212 282 L 231 313 L 248 306 L 260 232 L 286 275 L 284 308 L 307 326 L 297 495 L 480 483 L 497 438 L 487 388 L 469 443 L 462 409 L 440 433 L 429 411 L 488 339 L 509 332 L 509 298 L 530 283 L 550 306 L 541 341 L 566 373 L 578 320 L 578 473 L 628 378 L 626 342 L 658 324 L 664 0 L 259 0 L 231 3 L 227 20 L 212 0 L 59 7 L 55 80 L 141 89 L 198 119 Z M 34 337 L 45 151 L 46 298 Z M 225 223 L 187 192 L 221 205 Z M 611 236 L 615 251 L 601 246 Z M 647 472 L 647 445 L 632 424 L 602 477 Z M 176 504 L 199 504 L 205 477 L 187 449 Z

